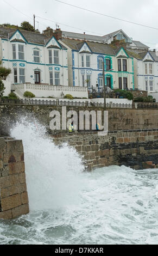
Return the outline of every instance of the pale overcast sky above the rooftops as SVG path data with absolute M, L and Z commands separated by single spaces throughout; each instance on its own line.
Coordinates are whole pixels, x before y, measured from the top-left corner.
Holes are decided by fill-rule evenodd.
M 98 13 L 141 23 L 143 25 L 158 29 L 158 0 L 61 1 L 97 11 Z M 130 38 L 143 42 L 151 49 L 158 48 L 158 30 L 156 29 L 132 25 L 127 22 L 111 19 L 110 17 L 93 14 L 85 10 L 80 10 L 66 4 L 56 2 L 55 0 L 0 0 L 0 4 L 1 24 L 10 23 L 20 26 L 22 21 L 27 20 L 33 25 L 33 14 L 35 14 L 36 21 L 39 22 L 36 22 L 36 28 L 39 27 L 40 32 L 46 29 L 47 26 L 55 29 L 56 23 L 60 25 L 62 31 L 71 31 L 77 33 L 86 32 L 86 34 L 96 35 L 105 35 L 117 31 L 118 29 L 123 29 L 123 31 Z M 21 13 L 16 9 L 21 11 Z M 54 22 L 40 19 L 37 16 L 52 20 Z M 64 24 L 75 28 L 67 27 Z M 78 28 L 81 28 L 81 30 Z

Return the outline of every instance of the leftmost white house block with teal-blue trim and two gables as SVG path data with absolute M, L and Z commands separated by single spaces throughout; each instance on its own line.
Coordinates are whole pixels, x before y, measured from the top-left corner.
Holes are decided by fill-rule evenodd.
M 67 48 L 54 36 L 0 27 L 0 49 L 11 84 L 68 86 Z

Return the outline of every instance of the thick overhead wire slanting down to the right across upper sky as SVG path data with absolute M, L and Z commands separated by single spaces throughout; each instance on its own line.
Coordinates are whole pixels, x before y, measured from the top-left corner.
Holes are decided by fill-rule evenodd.
M 54 0 L 54 1 L 59 2 L 59 3 L 62 3 L 62 4 L 66 4 L 66 5 L 69 5 L 69 6 L 71 6 L 71 7 L 78 8 L 78 9 L 81 9 L 81 10 L 84 10 L 84 11 L 89 11 L 90 13 L 94 13 L 94 14 L 98 14 L 98 15 L 105 16 L 105 17 L 109 17 L 109 18 L 112 18 L 112 19 L 115 19 L 115 20 L 124 21 L 124 22 L 128 22 L 128 23 L 131 23 L 131 24 L 134 24 L 134 25 L 138 25 L 138 26 L 142 26 L 142 27 L 147 27 L 147 28 L 152 28 L 152 29 L 158 30 L 158 28 L 146 26 L 146 25 L 143 25 L 143 24 L 140 24 L 140 23 L 136 23 L 136 22 L 132 22 L 132 21 L 122 20 L 122 19 L 119 19 L 119 18 L 110 16 L 110 15 L 98 13 L 97 11 L 92 11 L 92 10 L 89 10 L 89 9 L 85 9 L 85 8 L 79 7 L 79 6 L 77 6 L 77 5 L 68 4 L 68 3 L 65 3 L 65 2 L 62 2 L 62 1 L 59 1 L 59 0 Z

